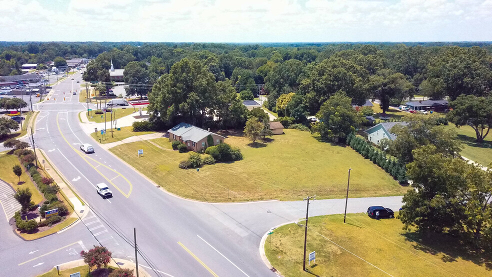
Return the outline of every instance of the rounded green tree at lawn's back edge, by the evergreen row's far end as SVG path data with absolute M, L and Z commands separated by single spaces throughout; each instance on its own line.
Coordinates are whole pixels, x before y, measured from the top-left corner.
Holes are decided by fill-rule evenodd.
M 332 141 L 345 139 L 362 122 L 362 117 L 352 107 L 351 99 L 341 91 L 333 94 L 321 105 L 316 117 L 320 121 L 316 131 L 321 138 Z

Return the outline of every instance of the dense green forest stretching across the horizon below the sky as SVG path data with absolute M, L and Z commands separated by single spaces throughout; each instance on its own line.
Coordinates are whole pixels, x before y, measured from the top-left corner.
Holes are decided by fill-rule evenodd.
M 58 56 L 95 57 L 84 79 L 109 82 L 112 61 L 125 69 L 130 94 L 144 95 L 153 87 L 152 120 L 165 124 L 184 119 L 203 125 L 217 118 L 213 111 L 220 106 L 237 106 L 232 94 L 224 95 L 231 91 L 241 92 L 242 99 L 267 94 L 265 107 L 302 123 L 337 91 L 352 104 L 377 98 L 385 112 L 415 94 L 454 100 L 460 94 L 487 96 L 492 89 L 489 42 L 0 42 L 0 52 L 0 75 Z M 290 95 L 288 104 L 278 109 L 282 94 Z M 241 112 L 224 112 L 226 122 L 219 125 L 243 124 L 242 115 L 227 115 Z

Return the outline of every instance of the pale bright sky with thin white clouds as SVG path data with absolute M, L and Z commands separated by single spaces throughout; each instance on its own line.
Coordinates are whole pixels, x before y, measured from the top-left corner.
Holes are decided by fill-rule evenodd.
M 491 41 L 492 0 L 0 0 L 6 41 Z

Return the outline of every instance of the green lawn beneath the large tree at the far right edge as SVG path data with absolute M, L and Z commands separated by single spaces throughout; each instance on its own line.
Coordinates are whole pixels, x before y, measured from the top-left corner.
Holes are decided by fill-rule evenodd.
M 484 166 L 492 162 L 492 132 L 488 133 L 483 142 L 478 143 L 476 142 L 475 130 L 472 127 L 466 125 L 456 128 L 452 123 L 449 123 L 448 127 L 454 128 L 458 134 L 457 138 L 461 140 L 463 148 L 460 154 L 462 156 Z

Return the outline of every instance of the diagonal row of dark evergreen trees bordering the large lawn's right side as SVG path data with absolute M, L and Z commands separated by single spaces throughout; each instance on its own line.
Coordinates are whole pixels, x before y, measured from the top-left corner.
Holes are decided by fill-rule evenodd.
M 393 157 L 387 158 L 383 151 L 372 146 L 367 140 L 355 136 L 353 133 L 347 136 L 346 141 L 357 153 L 379 165 L 379 167 L 397 179 L 398 182 L 405 183 L 407 181 L 406 167 L 403 162 Z

